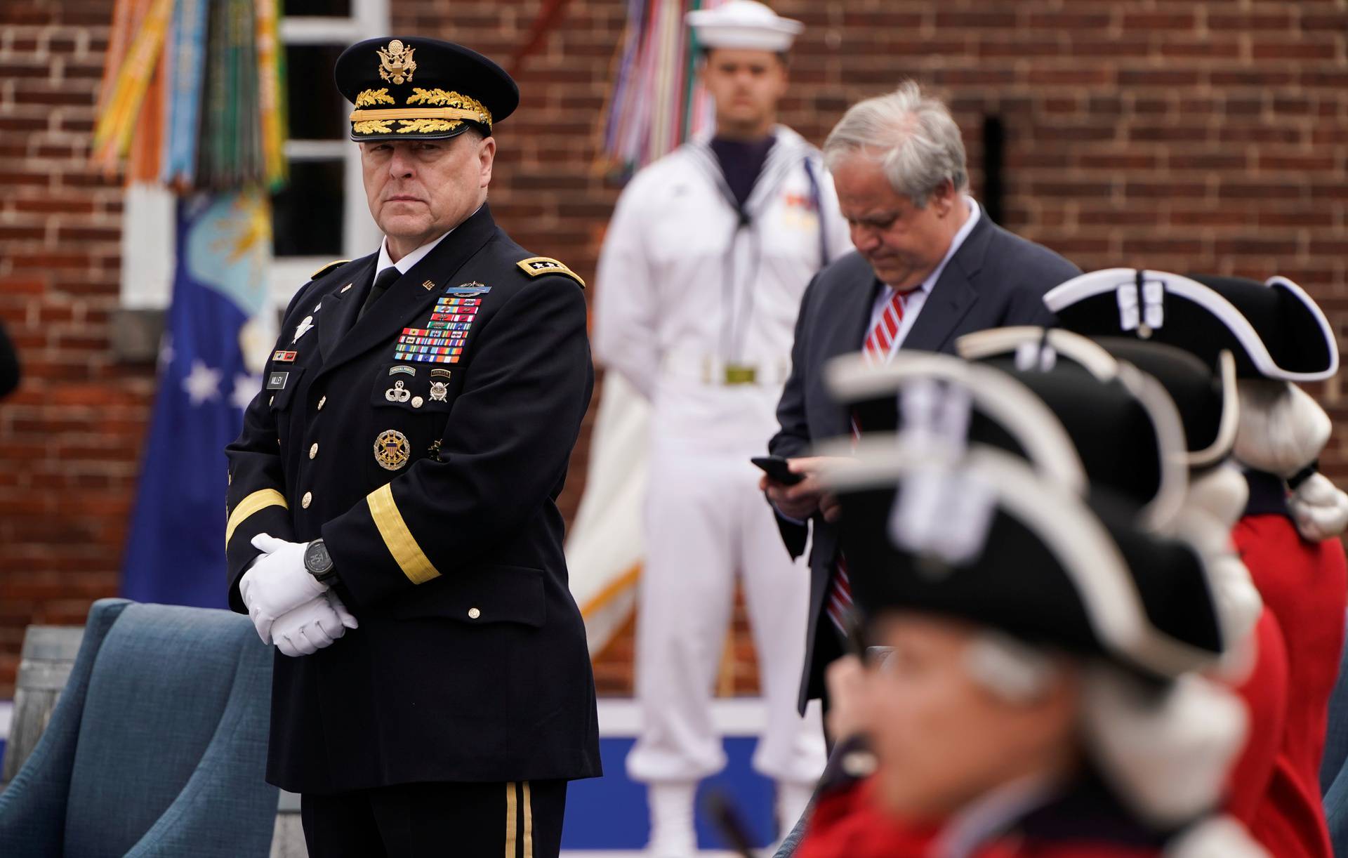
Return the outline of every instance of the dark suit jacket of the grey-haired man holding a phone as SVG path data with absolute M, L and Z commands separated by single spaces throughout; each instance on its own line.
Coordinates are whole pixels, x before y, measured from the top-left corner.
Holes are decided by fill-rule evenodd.
M 902 348 L 953 353 L 956 339 L 973 331 L 1053 324 L 1043 293 L 1078 274 L 1081 270 L 1062 256 L 1011 235 L 983 212 L 931 287 Z M 820 271 L 806 287 L 795 321 L 791 375 L 776 409 L 782 428 L 768 442 L 774 455 L 805 456 L 813 442 L 849 433 L 849 416 L 829 398 L 822 370 L 829 359 L 861 348 L 879 286 L 869 263 L 851 252 Z M 780 517 L 778 525 L 787 550 L 801 556 L 807 527 Z M 802 711 L 806 700 L 822 696 L 824 668 L 837 654 L 837 641 L 824 615 L 837 534 L 820 515 L 813 525 Z

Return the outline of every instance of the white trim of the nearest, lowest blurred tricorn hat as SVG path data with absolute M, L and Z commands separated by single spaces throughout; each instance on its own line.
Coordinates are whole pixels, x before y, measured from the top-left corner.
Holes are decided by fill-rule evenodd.
M 821 482 L 833 492 L 859 492 L 900 486 L 923 469 L 940 471 L 942 467 L 915 463 L 891 448 L 859 461 L 826 467 Z M 971 448 L 957 469 L 989 490 L 998 509 L 1016 519 L 1053 554 L 1072 581 L 1086 619 L 1107 652 L 1165 677 L 1211 666 L 1221 656 L 1220 652 L 1180 641 L 1151 622 L 1142 591 L 1115 536 L 1069 488 L 1037 476 L 1023 459 L 988 447 Z M 1161 538 L 1140 530 L 1135 533 L 1143 540 Z M 1216 590 L 1201 550 L 1182 534 L 1166 538 L 1181 542 L 1198 560 L 1212 615 L 1221 630 Z

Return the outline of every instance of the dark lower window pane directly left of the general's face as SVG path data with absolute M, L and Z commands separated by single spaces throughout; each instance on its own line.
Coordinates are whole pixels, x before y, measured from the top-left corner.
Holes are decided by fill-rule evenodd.
M 293 161 L 290 185 L 272 196 L 278 256 L 341 256 L 342 161 Z

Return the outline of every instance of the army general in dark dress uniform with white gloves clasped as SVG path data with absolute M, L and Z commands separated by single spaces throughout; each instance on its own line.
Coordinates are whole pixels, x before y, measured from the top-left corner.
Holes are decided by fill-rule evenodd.
M 310 855 L 557 855 L 600 774 L 555 499 L 589 403 L 584 283 L 492 220 L 515 82 L 380 38 L 337 61 L 377 252 L 286 310 L 228 448 L 229 599 L 278 649 L 267 778 Z

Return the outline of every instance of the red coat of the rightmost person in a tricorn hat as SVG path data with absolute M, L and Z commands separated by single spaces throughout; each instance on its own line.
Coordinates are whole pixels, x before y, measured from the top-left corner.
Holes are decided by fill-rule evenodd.
M 1330 858 L 1320 757 L 1343 652 L 1348 564 L 1339 540 L 1301 538 L 1281 479 L 1251 472 L 1247 480 L 1250 506 L 1232 537 L 1282 630 L 1287 704 L 1267 791 L 1242 822 L 1278 858 Z

